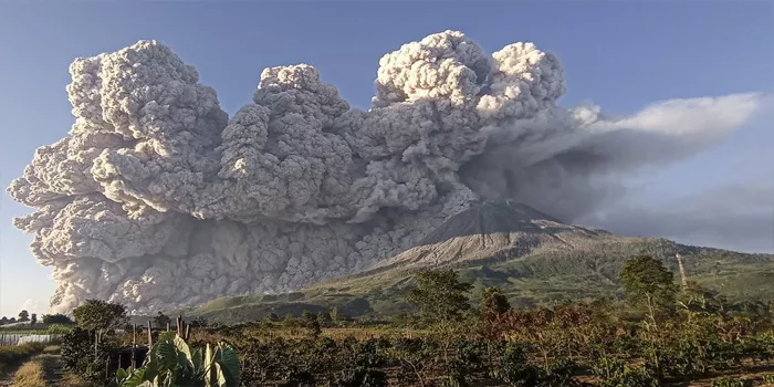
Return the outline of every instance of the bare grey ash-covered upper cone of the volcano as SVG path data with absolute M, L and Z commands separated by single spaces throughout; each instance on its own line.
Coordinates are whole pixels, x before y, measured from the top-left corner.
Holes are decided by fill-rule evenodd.
M 373 269 L 417 269 L 491 258 L 516 258 L 533 249 L 573 249 L 606 231 L 565 224 L 512 200 L 480 201 L 449 218 L 416 247 Z

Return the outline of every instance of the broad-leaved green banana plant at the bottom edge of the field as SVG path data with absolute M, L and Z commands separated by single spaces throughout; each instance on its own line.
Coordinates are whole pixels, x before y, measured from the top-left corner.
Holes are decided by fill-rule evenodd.
M 202 352 L 169 332 L 163 334 L 140 368 L 118 369 L 117 387 L 239 387 L 239 354 L 230 345 L 209 344 Z

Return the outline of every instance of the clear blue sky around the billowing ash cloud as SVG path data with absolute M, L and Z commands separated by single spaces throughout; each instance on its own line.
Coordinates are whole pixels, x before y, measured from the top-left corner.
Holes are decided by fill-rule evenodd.
M 72 125 L 64 87 L 73 59 L 115 51 L 140 39 L 159 40 L 195 65 L 200 82 L 218 91 L 230 114 L 250 100 L 263 67 L 301 62 L 315 65 L 351 104 L 368 107 L 379 57 L 447 29 L 466 32 L 490 52 L 515 41 L 533 41 L 562 60 L 568 87 L 561 100 L 564 106 L 593 101 L 605 111 L 627 114 L 661 100 L 771 93 L 772 4 L 2 2 L 0 184 L 8 186 L 36 147 L 57 140 Z M 627 200 L 627 210 L 729 185 L 774 181 L 774 132 L 766 122 L 771 119 L 759 118 L 718 147 L 644 177 L 640 189 Z M 28 251 L 31 237 L 11 226 L 11 218 L 29 209 L 7 195 L 0 205 L 0 314 L 10 315 L 22 305 L 45 303 L 54 284 L 50 271 Z M 774 206 L 770 216 L 774 228 Z M 629 233 L 640 231 L 688 242 L 714 241 L 705 234 L 661 234 L 658 228 Z M 761 237 L 746 244 L 714 242 L 771 252 L 774 230 L 771 243 Z

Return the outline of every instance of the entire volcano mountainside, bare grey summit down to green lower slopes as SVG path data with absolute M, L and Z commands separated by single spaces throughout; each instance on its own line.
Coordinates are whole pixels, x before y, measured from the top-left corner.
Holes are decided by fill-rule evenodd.
M 351 315 L 390 315 L 408 311 L 402 294 L 412 274 L 433 268 L 459 270 L 464 281 L 474 284 L 473 302 L 484 286 L 501 287 L 514 306 L 620 297 L 617 276 L 627 258 L 660 258 L 677 278 L 678 253 L 690 280 L 732 300 L 774 299 L 774 254 L 619 237 L 564 224 L 523 205 L 483 202 L 450 218 L 416 247 L 366 272 L 290 294 L 223 297 L 185 313 L 222 322 L 260 318 L 272 310 L 300 313 L 332 306 L 343 307 Z

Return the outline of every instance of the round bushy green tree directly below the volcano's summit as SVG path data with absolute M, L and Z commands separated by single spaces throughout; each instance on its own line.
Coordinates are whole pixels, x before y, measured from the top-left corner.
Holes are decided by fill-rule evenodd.
M 415 275 L 417 286 L 406 295 L 406 301 L 419 307 L 422 315 L 432 321 L 460 321 L 470 310 L 466 293 L 473 285 L 460 282 L 453 270 L 430 270 Z

